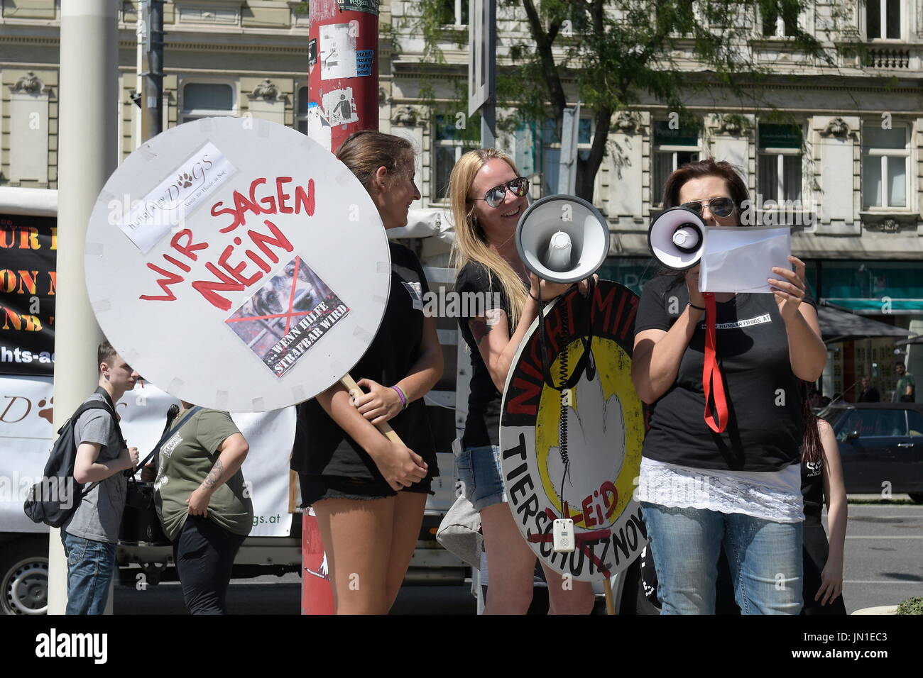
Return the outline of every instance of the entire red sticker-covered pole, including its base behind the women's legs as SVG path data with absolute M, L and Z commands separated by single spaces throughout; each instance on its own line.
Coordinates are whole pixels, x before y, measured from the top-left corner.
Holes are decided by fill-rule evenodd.
M 311 0 L 307 134 L 336 151 L 360 129 L 378 129 L 378 0 Z M 334 614 L 318 520 L 301 528 L 301 613 Z

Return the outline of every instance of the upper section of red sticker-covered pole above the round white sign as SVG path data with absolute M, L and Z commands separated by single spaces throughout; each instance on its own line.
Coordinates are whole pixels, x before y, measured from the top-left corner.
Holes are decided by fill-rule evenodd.
M 378 0 L 311 0 L 308 136 L 336 152 L 378 129 Z

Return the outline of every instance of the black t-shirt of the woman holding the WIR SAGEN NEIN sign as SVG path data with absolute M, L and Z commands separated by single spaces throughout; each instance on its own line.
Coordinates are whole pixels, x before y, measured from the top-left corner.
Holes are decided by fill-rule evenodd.
M 385 387 L 402 380 L 420 355 L 423 341 L 423 295 L 426 275 L 414 253 L 390 243 L 391 288 L 385 315 L 365 355 L 350 370 L 356 381 L 372 379 Z M 427 478 L 438 476 L 436 447 L 423 398 L 389 421 L 391 428 L 429 466 Z M 384 482 L 375 461 L 343 432 L 314 398 L 298 406 L 292 469 L 308 475 L 333 475 Z

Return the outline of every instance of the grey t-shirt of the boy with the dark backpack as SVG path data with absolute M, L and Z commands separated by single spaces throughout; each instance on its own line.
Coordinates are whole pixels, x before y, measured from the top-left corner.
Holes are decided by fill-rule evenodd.
M 86 401 L 93 399 L 105 400 L 100 394 L 94 393 Z M 81 443 L 102 445 L 100 456 L 96 459 L 100 462 L 117 458 L 122 449 L 122 441 L 108 409 L 88 410 L 81 414 L 74 434 L 78 446 Z M 62 529 L 75 537 L 117 543 L 122 511 L 125 509 L 126 486 L 126 477 L 122 471 L 100 482 L 83 497 L 80 506 Z

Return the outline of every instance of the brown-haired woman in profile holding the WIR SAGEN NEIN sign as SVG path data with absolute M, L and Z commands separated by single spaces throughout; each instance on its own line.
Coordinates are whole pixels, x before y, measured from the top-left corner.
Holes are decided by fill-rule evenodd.
M 366 187 L 386 229 L 407 224 L 420 192 L 406 139 L 356 132 L 337 157 Z M 343 246 L 348 266 L 349 245 Z M 299 472 L 303 505 L 313 506 L 318 518 L 339 614 L 388 613 L 439 472 L 422 399 L 442 375 L 436 320 L 423 313 L 426 276 L 406 247 L 390 243 L 390 258 L 384 318 L 351 370 L 366 393 L 337 384 L 298 407 L 292 468 Z M 403 444 L 378 432 L 382 422 Z

